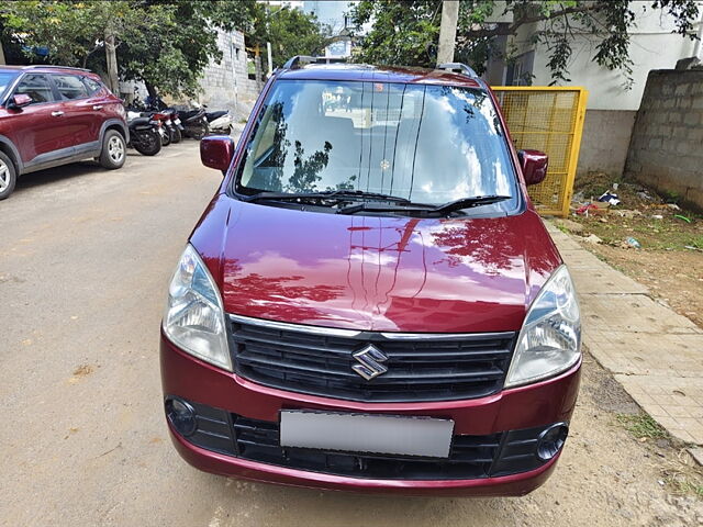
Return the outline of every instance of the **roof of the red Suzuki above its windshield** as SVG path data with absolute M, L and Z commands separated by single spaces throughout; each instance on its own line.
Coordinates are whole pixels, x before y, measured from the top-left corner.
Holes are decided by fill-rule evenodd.
M 445 69 L 371 66 L 368 64 L 306 64 L 277 74 L 287 80 L 356 80 L 440 86 L 461 86 L 484 90 L 478 79 Z

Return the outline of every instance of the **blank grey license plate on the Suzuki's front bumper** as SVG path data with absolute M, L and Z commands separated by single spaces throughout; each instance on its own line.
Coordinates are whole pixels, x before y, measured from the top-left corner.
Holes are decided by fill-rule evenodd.
M 282 447 L 448 458 L 454 421 L 281 411 Z

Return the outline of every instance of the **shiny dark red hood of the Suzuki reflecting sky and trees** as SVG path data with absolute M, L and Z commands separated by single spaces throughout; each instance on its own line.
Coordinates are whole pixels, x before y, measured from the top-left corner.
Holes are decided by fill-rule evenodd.
M 335 215 L 221 194 L 191 243 L 227 313 L 361 330 L 517 330 L 561 264 L 531 210 L 493 218 Z

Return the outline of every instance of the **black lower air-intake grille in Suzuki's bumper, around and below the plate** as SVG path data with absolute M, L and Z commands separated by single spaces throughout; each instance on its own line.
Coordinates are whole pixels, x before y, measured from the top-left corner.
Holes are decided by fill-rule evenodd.
M 260 463 L 349 478 L 389 480 L 473 480 L 507 475 L 542 467 L 536 456 L 539 435 L 548 426 L 484 436 L 456 435 L 449 458 L 367 455 L 279 444 L 279 424 L 189 403 L 198 428 L 187 440 L 207 450 Z

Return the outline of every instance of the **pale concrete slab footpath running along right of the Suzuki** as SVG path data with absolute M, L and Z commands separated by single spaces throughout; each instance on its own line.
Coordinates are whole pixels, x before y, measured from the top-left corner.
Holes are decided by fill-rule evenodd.
M 576 282 L 591 355 L 671 436 L 703 445 L 703 329 L 545 224 Z

